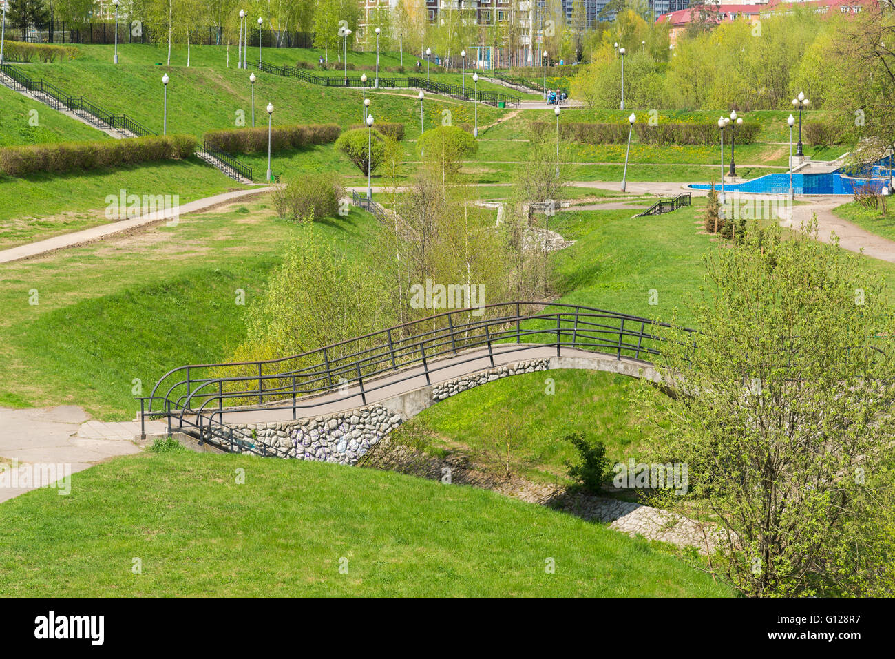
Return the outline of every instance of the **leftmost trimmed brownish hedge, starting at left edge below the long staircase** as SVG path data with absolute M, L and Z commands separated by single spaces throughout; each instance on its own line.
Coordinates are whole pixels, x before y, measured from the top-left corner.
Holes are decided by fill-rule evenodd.
M 196 151 L 192 135 L 149 135 L 125 140 L 69 141 L 0 149 L 0 171 L 9 176 L 38 172 L 72 172 L 189 158 Z

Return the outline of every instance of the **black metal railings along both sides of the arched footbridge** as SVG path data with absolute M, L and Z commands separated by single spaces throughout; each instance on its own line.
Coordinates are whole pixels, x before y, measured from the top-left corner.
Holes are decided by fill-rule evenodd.
M 301 355 L 230 364 L 191 364 L 163 375 L 141 401 L 141 420 L 165 417 L 168 432 L 198 432 L 227 450 L 275 455 L 226 415 L 291 410 L 351 401 L 366 405 L 385 387 L 420 380 L 457 364 L 490 360 L 533 347 L 578 348 L 616 359 L 644 361 L 660 355 L 662 341 L 693 346 L 695 330 L 624 313 L 570 304 L 511 302 L 442 312 Z M 647 362 L 644 361 L 644 364 Z M 409 386 L 409 385 L 408 385 Z M 242 442 L 242 443 L 239 443 Z

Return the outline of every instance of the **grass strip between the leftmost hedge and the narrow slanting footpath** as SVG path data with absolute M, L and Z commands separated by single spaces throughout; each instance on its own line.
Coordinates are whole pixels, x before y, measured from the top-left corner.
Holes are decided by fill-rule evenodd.
M 183 204 L 243 188 L 196 158 L 23 178 L 0 175 L 0 249 L 106 224 L 106 197 L 122 190 L 177 194 Z

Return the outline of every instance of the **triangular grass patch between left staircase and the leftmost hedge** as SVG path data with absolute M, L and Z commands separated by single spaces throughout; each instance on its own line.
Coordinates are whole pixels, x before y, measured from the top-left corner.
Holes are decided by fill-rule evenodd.
M 56 141 L 111 140 L 106 133 L 82 124 L 52 107 L 0 87 L 0 148 Z

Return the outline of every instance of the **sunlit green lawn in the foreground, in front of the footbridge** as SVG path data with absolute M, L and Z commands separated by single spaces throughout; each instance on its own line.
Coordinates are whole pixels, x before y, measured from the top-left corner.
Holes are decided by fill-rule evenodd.
M 4 596 L 732 595 L 645 541 L 495 492 L 185 451 L 4 502 L 0 544 Z

